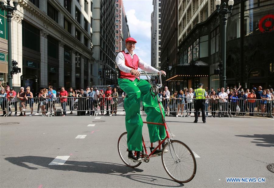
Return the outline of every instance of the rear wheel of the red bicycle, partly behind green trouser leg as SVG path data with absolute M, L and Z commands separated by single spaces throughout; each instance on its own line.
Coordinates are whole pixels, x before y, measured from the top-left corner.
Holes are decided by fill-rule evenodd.
M 129 167 L 137 167 L 139 166 L 142 162 L 134 162 L 131 159 L 128 159 L 128 132 L 125 132 L 121 134 L 121 136 L 118 139 L 118 153 L 122 159 L 122 161 Z

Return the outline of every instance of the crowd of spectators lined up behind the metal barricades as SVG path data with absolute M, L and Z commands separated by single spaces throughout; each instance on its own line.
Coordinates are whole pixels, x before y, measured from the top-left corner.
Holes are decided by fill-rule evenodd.
M 12 109 L 14 109 L 13 116 L 17 116 L 17 112 L 20 112 L 19 116 L 26 116 L 26 107 L 29 105 L 30 114 L 33 115 L 34 102 L 37 103 L 37 112 L 35 115 L 42 113 L 42 116 L 51 114 L 52 116 L 58 116 L 56 110 L 56 103 L 61 104 L 62 113 L 61 116 L 67 116 L 73 114 L 73 111 L 77 111 L 78 116 L 90 115 L 100 112 L 101 116 L 116 116 L 118 97 L 122 97 L 123 101 L 126 97 L 126 93 L 120 88 L 111 88 L 107 86 L 106 91 L 97 89 L 96 87 L 87 86 L 86 89 L 73 90 L 69 88 L 67 91 L 64 87 L 56 91 L 52 86 L 41 89 L 39 93 L 33 94 L 30 91 L 30 87 L 20 88 L 19 92 L 14 91 L 9 86 L 5 88 L 1 85 L 0 92 L 0 105 L 4 116 L 7 112 L 8 115 L 12 115 Z M 211 117 L 217 116 L 224 117 L 227 115 L 236 116 L 236 112 L 239 116 L 245 116 L 246 112 L 249 112 L 249 116 L 254 116 L 254 109 L 256 108 L 257 115 L 260 113 L 263 117 L 265 115 L 270 116 L 270 112 L 274 111 L 273 89 L 262 89 L 261 86 L 252 89 L 241 89 L 241 86 L 237 88 L 217 88 L 216 90 L 211 87 L 210 90 L 206 87 L 206 117 L 211 112 Z M 35 98 L 35 96 L 37 98 Z M 193 89 L 184 88 L 171 93 L 167 86 L 163 91 L 158 93 L 163 104 L 165 115 L 190 117 L 193 105 L 195 105 L 195 99 L 193 99 Z M 258 100 L 259 99 L 259 100 Z M 272 103 L 271 103 L 272 102 Z M 19 111 L 17 111 L 17 105 L 19 104 Z M 67 106 L 69 110 L 67 110 Z M 106 106 L 106 109 L 105 109 Z M 104 114 L 104 112 L 106 113 Z M 184 112 L 187 112 L 186 115 Z M 229 113 L 229 114 L 227 114 Z M 60 114 L 60 113 L 59 113 Z

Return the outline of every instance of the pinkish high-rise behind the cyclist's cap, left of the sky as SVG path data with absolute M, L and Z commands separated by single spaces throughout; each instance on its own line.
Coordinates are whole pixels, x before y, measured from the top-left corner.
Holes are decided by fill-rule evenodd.
M 125 39 L 130 37 L 130 33 L 123 1 L 116 0 L 115 7 L 115 52 L 117 54 L 118 52 L 125 49 Z

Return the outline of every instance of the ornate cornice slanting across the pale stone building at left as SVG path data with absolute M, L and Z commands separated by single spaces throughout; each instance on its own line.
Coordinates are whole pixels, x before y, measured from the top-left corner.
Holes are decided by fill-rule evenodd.
M 66 37 L 69 41 L 73 42 L 73 46 L 70 46 L 71 48 L 76 48 L 76 45 L 78 45 L 80 48 L 82 48 L 82 52 L 85 53 L 86 56 L 91 56 L 93 54 L 93 52 L 91 50 L 89 50 L 88 47 L 86 47 L 84 44 L 79 42 L 73 35 L 68 33 L 64 28 L 61 27 L 61 25 L 59 25 L 54 20 L 52 20 L 45 12 L 40 10 L 38 7 L 36 7 L 32 3 L 29 3 L 26 0 L 18 0 L 18 4 L 21 5 L 23 9 L 28 10 L 33 15 L 36 15 L 36 17 L 39 18 L 43 22 L 44 30 L 48 29 L 48 27 L 50 26 L 51 28 L 55 29 L 57 32 L 61 33 L 61 39 L 64 40 Z M 21 11 L 21 9 L 20 9 L 20 11 Z M 24 16 L 25 15 L 23 15 L 23 18 L 24 18 Z

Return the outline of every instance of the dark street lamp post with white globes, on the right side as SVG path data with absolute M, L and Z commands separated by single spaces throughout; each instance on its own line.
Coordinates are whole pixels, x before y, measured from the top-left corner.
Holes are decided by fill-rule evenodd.
M 226 3 L 223 2 L 223 5 L 221 7 L 221 0 L 216 0 L 216 10 L 217 13 L 221 15 L 221 23 L 222 23 L 222 36 L 221 36 L 221 61 L 223 62 L 223 71 L 222 71 L 222 87 L 226 87 L 226 29 L 227 29 L 227 14 L 232 12 L 233 0 L 228 1 L 228 8 L 226 7 Z

